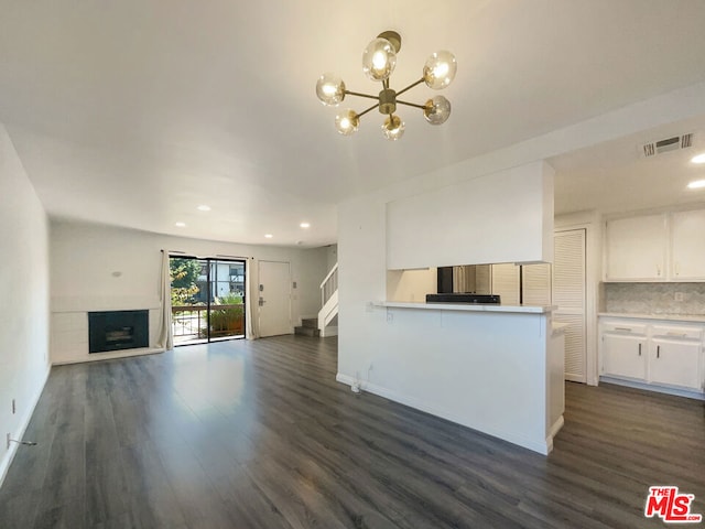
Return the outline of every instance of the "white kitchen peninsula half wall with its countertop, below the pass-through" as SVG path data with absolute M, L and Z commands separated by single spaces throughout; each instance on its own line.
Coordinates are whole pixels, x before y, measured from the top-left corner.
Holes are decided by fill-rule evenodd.
M 547 454 L 563 425 L 563 336 L 552 306 L 370 303 L 379 348 L 337 380 Z M 359 365 L 359 364 L 358 364 Z

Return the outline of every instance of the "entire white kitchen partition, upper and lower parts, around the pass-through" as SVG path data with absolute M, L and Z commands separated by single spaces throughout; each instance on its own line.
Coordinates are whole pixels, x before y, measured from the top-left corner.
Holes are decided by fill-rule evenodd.
M 437 293 L 438 267 L 553 261 L 553 169 L 485 169 L 338 205 L 336 379 L 547 454 L 563 423 L 553 307 L 406 303 Z

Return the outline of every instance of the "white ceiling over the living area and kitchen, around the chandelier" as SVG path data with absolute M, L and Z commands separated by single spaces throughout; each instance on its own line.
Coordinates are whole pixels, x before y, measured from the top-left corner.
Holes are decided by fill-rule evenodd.
M 249 244 L 333 242 L 346 196 L 705 80 L 693 0 L 0 0 L 0 122 L 51 216 Z M 430 53 L 456 54 L 453 115 L 431 127 L 402 108 L 393 143 L 371 112 L 340 137 L 316 78 L 377 91 L 360 56 L 387 29 L 403 39 L 393 88 Z M 631 191 L 629 160 L 601 147 L 554 160 L 557 212 L 633 198 L 610 173 Z

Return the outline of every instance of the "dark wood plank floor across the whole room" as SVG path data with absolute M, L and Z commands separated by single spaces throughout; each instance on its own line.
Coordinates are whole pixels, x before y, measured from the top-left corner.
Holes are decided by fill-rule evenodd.
M 663 527 L 643 517 L 650 485 L 705 514 L 703 402 L 568 384 L 544 457 L 351 393 L 336 348 L 282 336 L 55 367 L 0 527 Z

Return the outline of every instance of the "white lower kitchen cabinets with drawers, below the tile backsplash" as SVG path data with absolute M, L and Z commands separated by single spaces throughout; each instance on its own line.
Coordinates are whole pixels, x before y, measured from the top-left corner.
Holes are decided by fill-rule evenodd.
M 600 374 L 703 393 L 705 324 L 600 317 Z

